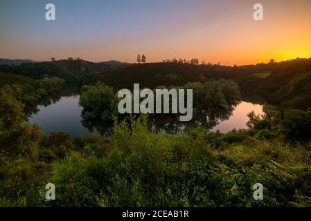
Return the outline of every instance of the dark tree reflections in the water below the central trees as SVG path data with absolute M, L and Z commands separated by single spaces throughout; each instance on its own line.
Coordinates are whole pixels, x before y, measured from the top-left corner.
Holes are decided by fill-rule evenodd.
M 240 102 L 230 104 L 228 108 L 215 108 L 213 110 L 201 110 L 197 113 L 193 113 L 193 119 L 189 122 L 179 121 L 179 115 L 161 115 L 161 114 L 150 114 L 150 128 L 152 131 L 161 133 L 184 133 L 186 129 L 201 126 L 207 129 L 215 127 L 220 122 L 229 119 L 233 114 L 233 110 Z M 83 115 L 82 115 L 83 116 Z M 125 119 L 126 116 L 118 117 L 118 119 Z M 82 120 L 82 125 L 85 126 L 91 133 L 98 131 L 101 135 L 107 135 L 109 129 L 112 128 L 113 122 L 103 120 Z

